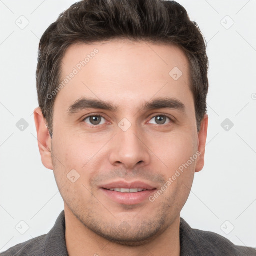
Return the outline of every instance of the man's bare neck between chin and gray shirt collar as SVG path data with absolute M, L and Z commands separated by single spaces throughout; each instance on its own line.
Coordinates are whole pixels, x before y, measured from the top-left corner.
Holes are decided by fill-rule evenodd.
M 125 246 L 106 240 L 83 225 L 65 206 L 65 238 L 69 256 L 85 255 L 180 255 L 178 216 L 158 237 L 141 246 Z

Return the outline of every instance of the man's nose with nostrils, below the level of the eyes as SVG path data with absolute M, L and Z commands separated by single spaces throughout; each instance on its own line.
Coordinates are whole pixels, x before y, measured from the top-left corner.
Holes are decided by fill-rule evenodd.
M 133 169 L 150 162 L 150 149 L 145 133 L 138 132 L 136 125 L 131 125 L 126 131 L 117 127 L 110 150 L 109 160 L 114 166 L 123 165 L 121 167 Z

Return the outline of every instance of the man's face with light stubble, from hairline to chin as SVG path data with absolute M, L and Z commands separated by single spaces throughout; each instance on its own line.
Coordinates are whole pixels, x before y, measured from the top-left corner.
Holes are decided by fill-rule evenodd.
M 188 68 L 177 46 L 126 40 L 67 49 L 60 83 L 74 75 L 54 103 L 52 168 L 65 211 L 98 235 L 135 245 L 179 218 L 204 154 L 196 153 Z M 77 103 L 85 98 L 116 109 Z M 167 98 L 174 102 L 169 107 L 145 107 Z M 133 189 L 128 193 L 127 188 Z

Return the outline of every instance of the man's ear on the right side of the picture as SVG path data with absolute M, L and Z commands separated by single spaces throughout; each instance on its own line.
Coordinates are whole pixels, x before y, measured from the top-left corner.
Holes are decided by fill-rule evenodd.
M 201 153 L 197 158 L 195 172 L 199 172 L 202 170 L 204 166 L 204 153 L 205 153 L 205 144 L 207 138 L 207 130 L 208 130 L 208 115 L 205 114 L 200 126 L 200 131 L 198 132 L 198 151 Z

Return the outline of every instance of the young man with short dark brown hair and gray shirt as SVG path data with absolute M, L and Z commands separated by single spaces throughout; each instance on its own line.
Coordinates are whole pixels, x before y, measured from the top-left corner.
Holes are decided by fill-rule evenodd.
M 34 119 L 64 210 L 1 255 L 256 255 L 180 218 L 204 165 L 207 69 L 203 36 L 174 1 L 62 13 L 40 40 Z

